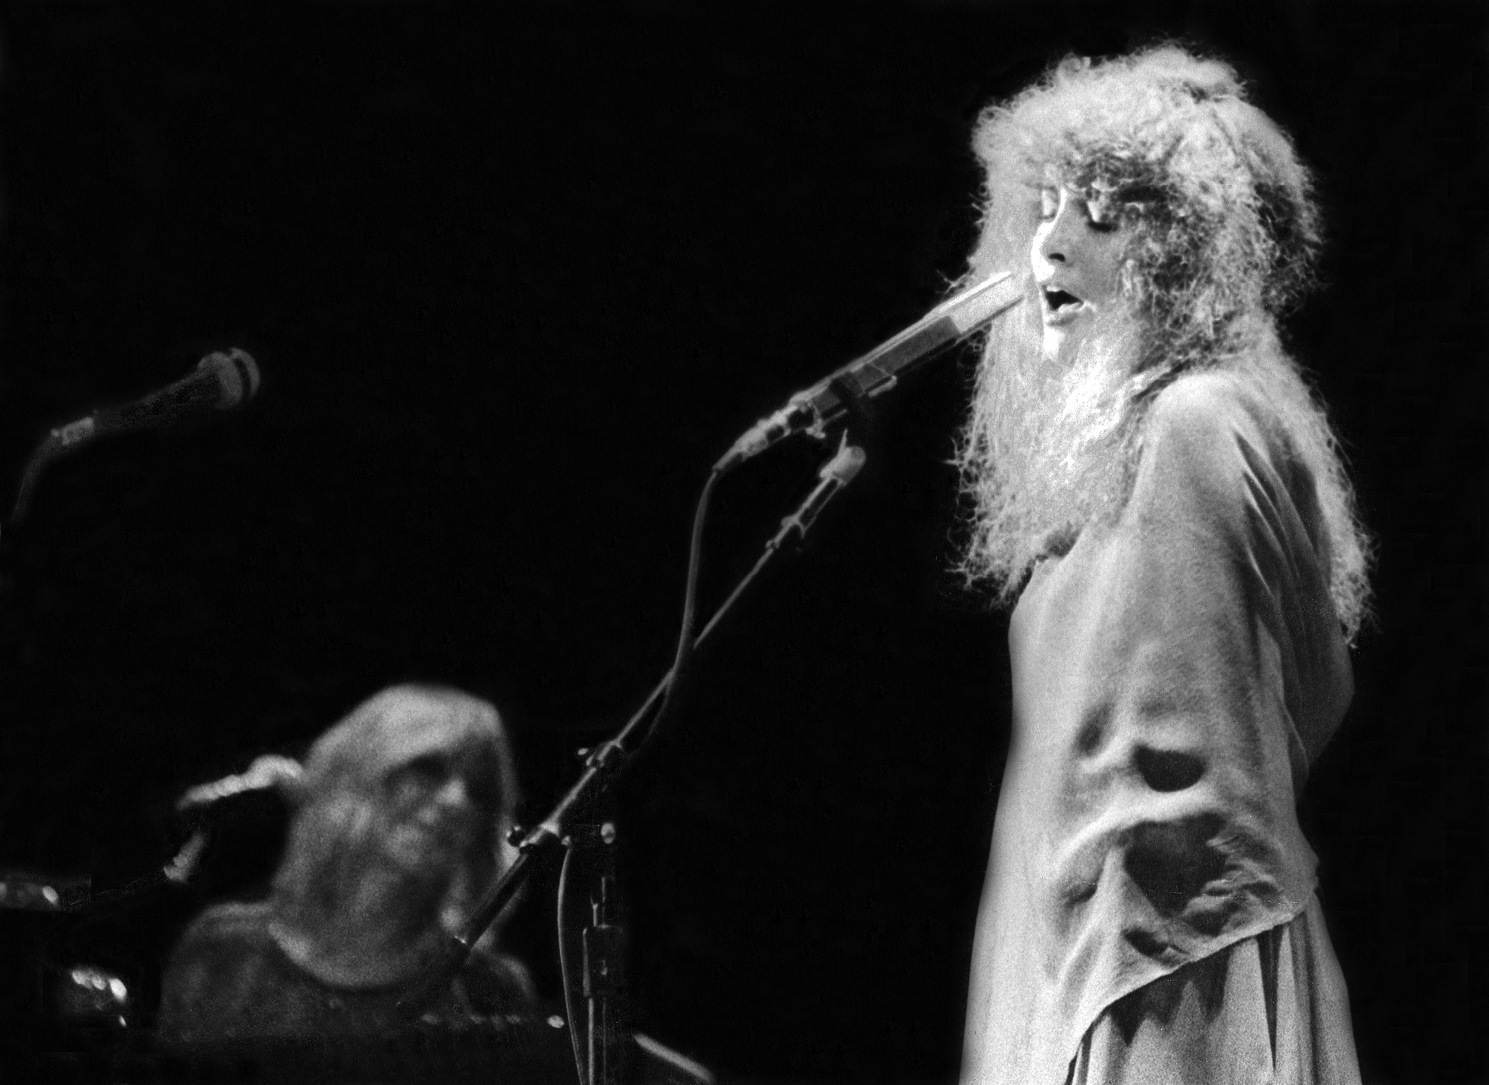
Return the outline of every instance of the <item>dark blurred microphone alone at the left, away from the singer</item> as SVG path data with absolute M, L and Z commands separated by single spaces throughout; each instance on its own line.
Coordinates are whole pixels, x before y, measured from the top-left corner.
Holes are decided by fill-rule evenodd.
M 234 347 L 213 351 L 174 384 L 149 396 L 104 406 L 92 414 L 54 429 L 27 460 L 16 490 L 10 524 L 25 518 L 42 469 L 64 452 L 71 452 L 110 433 L 164 429 L 210 411 L 232 411 L 253 399 L 259 390 L 259 363 L 246 350 Z

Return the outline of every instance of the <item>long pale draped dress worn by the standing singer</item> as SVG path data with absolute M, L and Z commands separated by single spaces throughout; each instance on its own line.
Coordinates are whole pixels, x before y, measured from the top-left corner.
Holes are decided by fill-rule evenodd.
M 1358 1082 L 1295 813 L 1352 695 L 1315 479 L 1228 372 L 1141 442 L 1010 625 L 962 1081 Z

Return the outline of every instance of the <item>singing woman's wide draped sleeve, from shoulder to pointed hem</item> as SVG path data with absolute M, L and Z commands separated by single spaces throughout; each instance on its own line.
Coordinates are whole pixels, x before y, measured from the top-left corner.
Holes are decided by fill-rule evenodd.
M 1080 1020 L 1306 906 L 1295 804 L 1351 695 L 1313 478 L 1269 403 L 1181 380 L 1138 464 L 1044 615 L 1068 637 L 1033 725 L 1059 743 L 1048 889 Z

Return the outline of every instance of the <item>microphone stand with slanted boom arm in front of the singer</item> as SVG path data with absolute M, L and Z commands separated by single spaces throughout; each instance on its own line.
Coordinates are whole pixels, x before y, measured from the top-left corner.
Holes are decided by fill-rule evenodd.
M 828 502 L 859 472 L 865 460 L 864 451 L 847 444 L 844 436 L 841 447 L 832 460 L 822 469 L 820 482 L 801 502 L 791 515 L 780 521 L 780 530 L 765 543 L 764 551 L 755 566 L 740 577 L 730 595 L 713 612 L 707 625 L 698 633 L 691 644 L 685 641 L 685 650 L 679 655 L 683 662 L 691 656 L 691 650 L 701 644 L 719 622 L 730 612 L 736 601 L 744 594 L 750 583 L 764 572 L 771 560 L 789 543 L 800 543 L 816 522 L 817 515 Z M 716 467 L 709 479 L 709 488 L 719 478 L 722 469 Z M 707 493 L 707 488 L 706 491 Z M 517 845 L 517 859 L 502 874 L 496 886 L 476 903 L 469 920 L 459 935 L 451 935 L 445 942 L 444 954 L 398 1002 L 399 1012 L 405 1020 L 417 1018 L 429 1006 L 450 981 L 460 972 L 475 950 L 476 942 L 485 930 L 497 920 L 502 911 L 532 875 L 533 868 L 551 857 L 560 847 L 569 854 L 564 859 L 579 854 L 593 862 L 591 892 L 590 892 L 590 924 L 584 932 L 585 950 L 585 981 L 584 996 L 588 1003 L 587 1024 L 588 1042 L 585 1045 L 584 1061 L 587 1073 L 581 1085 L 612 1085 L 619 1081 L 619 1045 L 625 1036 L 619 1021 L 618 997 L 618 966 L 619 966 L 619 926 L 618 899 L 615 889 L 615 826 L 603 814 L 605 798 L 612 784 L 621 777 L 625 765 L 640 752 L 649 740 L 657 725 L 661 722 L 669 702 L 669 694 L 680 682 L 682 671 L 675 664 L 652 692 L 642 702 L 640 708 L 627 720 L 625 726 L 610 740 L 602 743 L 585 755 L 585 768 L 579 780 L 558 801 L 536 828 L 512 830 L 512 842 Z M 658 708 L 658 705 L 661 705 Z M 651 720 L 648 723 L 648 720 Z M 560 893 L 563 890 L 560 889 Z M 567 984 L 567 978 L 564 979 Z M 572 1017 L 572 1015 L 570 1015 Z M 569 1027 L 573 1028 L 570 1020 Z M 578 1055 L 578 1037 L 575 1037 Z

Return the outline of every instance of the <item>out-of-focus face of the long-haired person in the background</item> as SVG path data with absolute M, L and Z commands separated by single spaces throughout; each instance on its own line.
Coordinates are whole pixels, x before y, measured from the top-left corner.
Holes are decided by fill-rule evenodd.
M 490 772 L 476 758 L 427 753 L 386 783 L 384 854 L 408 874 L 453 874 L 496 810 Z

